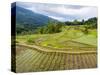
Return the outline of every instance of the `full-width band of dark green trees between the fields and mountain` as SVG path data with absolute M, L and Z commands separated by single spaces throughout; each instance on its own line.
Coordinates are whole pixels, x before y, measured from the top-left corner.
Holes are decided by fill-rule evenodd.
M 97 28 L 97 18 L 93 17 L 88 20 L 74 20 L 74 21 L 66 21 L 66 22 L 58 22 L 58 21 L 52 21 L 49 20 L 47 24 L 42 26 L 35 26 L 32 24 L 17 24 L 16 31 L 17 34 L 33 34 L 33 33 L 39 33 L 39 34 L 52 34 L 52 33 L 58 33 L 61 32 L 61 28 L 64 26 L 77 26 L 77 25 L 83 25 L 82 31 L 84 33 L 88 33 L 88 29 L 91 28 Z

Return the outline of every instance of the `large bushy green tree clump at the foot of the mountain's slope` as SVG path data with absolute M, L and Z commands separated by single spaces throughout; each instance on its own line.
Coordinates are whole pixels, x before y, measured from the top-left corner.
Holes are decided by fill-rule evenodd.
M 64 26 L 64 24 L 61 22 L 49 21 L 48 25 L 43 26 L 43 27 L 39 27 L 37 29 L 37 33 L 40 33 L 40 34 L 58 33 L 58 32 L 61 32 L 61 28 L 63 26 Z

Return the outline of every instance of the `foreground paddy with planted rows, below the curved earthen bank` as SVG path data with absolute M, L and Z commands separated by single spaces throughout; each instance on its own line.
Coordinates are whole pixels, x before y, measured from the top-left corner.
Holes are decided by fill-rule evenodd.
M 54 71 L 96 67 L 96 52 L 44 52 L 36 48 L 32 49 L 24 46 L 16 46 L 16 72 Z

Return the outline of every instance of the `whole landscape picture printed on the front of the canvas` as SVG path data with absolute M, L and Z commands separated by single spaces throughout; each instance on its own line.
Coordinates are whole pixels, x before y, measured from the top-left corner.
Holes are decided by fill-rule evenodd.
M 85 8 L 96 11 L 96 7 L 30 4 L 16 3 L 16 72 L 97 67 L 97 16 L 89 15 L 90 10 L 86 10 L 85 15 L 79 13 Z M 62 9 L 66 10 L 66 14 L 63 14 L 66 18 L 59 14 L 61 11 L 55 11 L 57 15 L 52 11 L 62 6 Z M 77 13 L 81 14 L 81 17 Z M 50 17 L 52 15 L 53 17 Z M 58 15 L 64 19 L 54 18 Z

